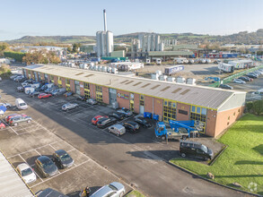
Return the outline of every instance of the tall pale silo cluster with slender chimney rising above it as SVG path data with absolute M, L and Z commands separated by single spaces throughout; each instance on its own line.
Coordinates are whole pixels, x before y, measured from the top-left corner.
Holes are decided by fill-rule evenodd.
M 104 16 L 104 31 L 97 31 L 96 33 L 96 52 L 97 56 L 110 56 L 113 48 L 113 33 L 107 30 L 106 10 L 103 10 Z

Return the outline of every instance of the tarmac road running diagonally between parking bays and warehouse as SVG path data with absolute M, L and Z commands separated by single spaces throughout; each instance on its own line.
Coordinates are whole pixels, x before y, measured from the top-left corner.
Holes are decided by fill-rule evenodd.
M 43 124 L 49 131 L 101 166 L 107 167 L 125 182 L 133 184 L 147 196 L 248 196 L 208 183 L 172 167 L 166 160 L 147 149 L 154 141 L 142 137 L 139 141 L 130 142 L 93 127 L 88 124 L 90 119 L 85 123 L 75 118 L 77 114 L 65 116 L 54 107 L 50 107 L 52 99 L 48 101 L 31 99 L 23 93 L 14 91 L 13 82 L 3 81 L 1 89 L 7 95 L 24 99 L 31 107 L 31 116 L 39 124 Z M 100 110 L 104 109 L 94 107 L 92 110 L 83 111 L 80 116 L 95 115 Z

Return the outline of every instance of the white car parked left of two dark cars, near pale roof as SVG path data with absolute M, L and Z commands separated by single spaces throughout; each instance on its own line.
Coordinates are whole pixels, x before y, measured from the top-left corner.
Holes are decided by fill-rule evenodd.
M 30 184 L 37 180 L 37 176 L 35 175 L 32 168 L 26 163 L 22 163 L 16 167 L 17 172 L 22 176 L 22 179 L 26 184 Z

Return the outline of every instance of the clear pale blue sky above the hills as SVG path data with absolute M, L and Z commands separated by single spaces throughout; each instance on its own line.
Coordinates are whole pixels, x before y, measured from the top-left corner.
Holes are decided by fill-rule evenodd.
M 114 35 L 263 29 L 263 0 L 11 0 L 0 2 L 0 40 L 22 36 L 95 36 L 102 10 Z

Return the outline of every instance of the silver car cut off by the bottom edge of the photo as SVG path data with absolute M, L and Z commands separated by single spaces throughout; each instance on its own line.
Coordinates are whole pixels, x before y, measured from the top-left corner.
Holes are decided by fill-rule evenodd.
M 119 184 L 118 182 L 113 182 L 111 184 L 107 184 L 95 193 L 92 193 L 91 197 L 122 197 L 125 193 L 125 187 L 123 184 Z

